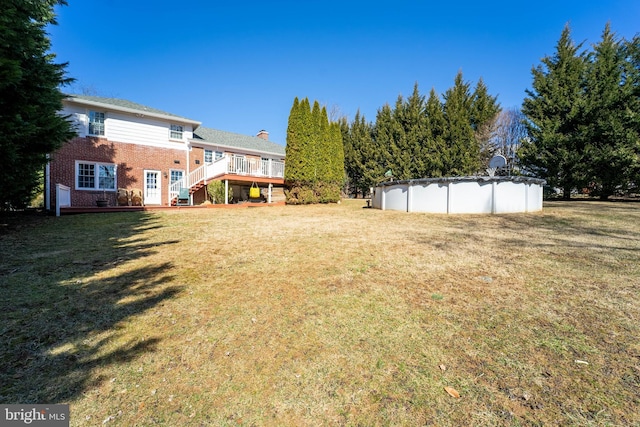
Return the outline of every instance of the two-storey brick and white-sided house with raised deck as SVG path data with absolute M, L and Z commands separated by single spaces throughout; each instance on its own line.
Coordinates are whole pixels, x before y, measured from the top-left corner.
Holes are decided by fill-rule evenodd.
M 45 203 L 56 206 L 56 186 L 71 206 L 117 204 L 117 191 L 135 190 L 148 206 L 176 203 L 180 189 L 190 204 L 206 200 L 206 184 L 221 180 L 233 201 L 248 199 L 252 185 L 271 202 L 282 195 L 285 147 L 268 133 L 239 135 L 130 101 L 72 95 L 61 114 L 77 137 L 50 155 Z M 255 184 L 254 184 L 255 183 Z

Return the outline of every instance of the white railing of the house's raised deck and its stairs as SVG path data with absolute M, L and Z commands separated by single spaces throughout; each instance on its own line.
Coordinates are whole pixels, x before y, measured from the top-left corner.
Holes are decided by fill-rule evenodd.
M 255 176 L 256 178 L 284 178 L 284 162 L 273 159 L 246 158 L 235 154 L 223 156 L 213 163 L 200 166 L 171 184 L 169 186 L 169 200 L 177 197 L 181 188 L 191 188 L 203 180 L 224 174 Z

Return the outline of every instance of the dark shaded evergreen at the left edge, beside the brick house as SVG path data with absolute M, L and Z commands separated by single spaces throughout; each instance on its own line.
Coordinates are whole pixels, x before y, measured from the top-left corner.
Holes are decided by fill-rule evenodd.
M 5 2 L 7 3 L 7 2 Z M 31 200 L 47 154 L 74 136 L 62 109 L 66 64 L 47 53 L 45 28 L 64 0 L 14 0 L 0 13 L 0 210 Z

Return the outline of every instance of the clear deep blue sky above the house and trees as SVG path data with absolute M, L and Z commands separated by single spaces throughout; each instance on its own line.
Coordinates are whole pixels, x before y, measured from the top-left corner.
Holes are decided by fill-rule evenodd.
M 48 29 L 56 61 L 77 80 L 66 91 L 230 132 L 266 129 L 283 145 L 296 96 L 375 121 L 416 82 L 442 94 L 461 70 L 472 86 L 482 77 L 503 108 L 520 106 L 531 68 L 553 54 L 566 23 L 585 47 L 607 22 L 619 37 L 640 32 L 638 0 L 68 3 Z

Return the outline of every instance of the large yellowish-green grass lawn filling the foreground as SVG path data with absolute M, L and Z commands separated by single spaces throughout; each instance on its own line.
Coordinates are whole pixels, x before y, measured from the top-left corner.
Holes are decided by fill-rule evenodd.
M 69 403 L 71 425 L 640 425 L 640 204 L 362 206 L 4 230 L 0 403 Z

